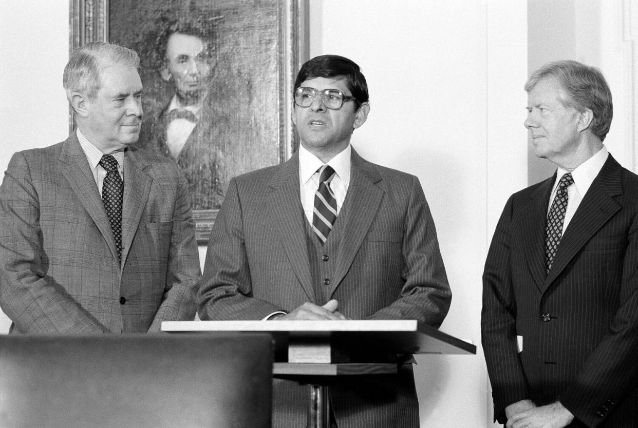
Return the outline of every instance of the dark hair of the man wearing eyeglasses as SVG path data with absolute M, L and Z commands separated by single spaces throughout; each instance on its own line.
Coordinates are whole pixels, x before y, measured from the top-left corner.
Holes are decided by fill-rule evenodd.
M 344 77 L 346 86 L 352 92 L 352 96 L 356 98 L 357 108 L 368 101 L 366 77 L 361 73 L 359 66 L 346 57 L 321 55 L 307 61 L 297 73 L 295 89 L 306 80 L 316 77 Z

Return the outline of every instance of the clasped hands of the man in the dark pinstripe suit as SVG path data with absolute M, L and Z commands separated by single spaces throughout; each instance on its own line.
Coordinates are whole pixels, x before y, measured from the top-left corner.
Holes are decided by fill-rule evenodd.
M 518 401 L 507 406 L 505 415 L 506 428 L 563 428 L 574 420 L 560 401 L 540 407 L 530 400 Z

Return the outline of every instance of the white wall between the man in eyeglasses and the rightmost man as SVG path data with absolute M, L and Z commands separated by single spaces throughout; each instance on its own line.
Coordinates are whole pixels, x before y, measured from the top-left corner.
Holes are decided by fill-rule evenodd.
M 526 4 L 311 0 L 310 26 L 311 57 L 345 55 L 366 75 L 357 151 L 421 181 L 454 294 L 441 330 L 479 345 L 487 244 L 526 184 Z M 480 351 L 417 361 L 423 426 L 491 425 Z

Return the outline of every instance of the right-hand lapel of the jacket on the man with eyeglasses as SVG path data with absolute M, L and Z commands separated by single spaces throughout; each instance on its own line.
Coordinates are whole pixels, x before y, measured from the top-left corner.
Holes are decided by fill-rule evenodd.
M 334 293 L 350 270 L 383 198 L 383 190 L 375 184 L 382 179 L 381 176 L 372 164 L 361 158 L 354 149 L 351 164 L 350 185 L 342 209 L 345 212 L 340 213 L 345 214 L 346 224 L 341 229 L 339 260 L 330 295 Z

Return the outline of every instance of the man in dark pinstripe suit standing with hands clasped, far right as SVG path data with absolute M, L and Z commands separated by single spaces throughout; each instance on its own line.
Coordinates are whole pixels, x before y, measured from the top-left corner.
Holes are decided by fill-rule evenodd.
M 638 177 L 603 145 L 602 73 L 576 61 L 525 85 L 537 156 L 558 166 L 510 197 L 483 276 L 494 417 L 507 427 L 638 426 Z

